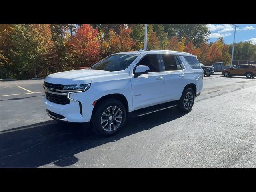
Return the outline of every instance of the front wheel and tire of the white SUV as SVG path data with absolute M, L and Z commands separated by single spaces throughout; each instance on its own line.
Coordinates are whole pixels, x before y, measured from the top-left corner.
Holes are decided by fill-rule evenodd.
M 119 100 L 108 98 L 96 106 L 91 126 L 92 130 L 100 136 L 112 136 L 121 130 L 125 120 L 124 105 Z

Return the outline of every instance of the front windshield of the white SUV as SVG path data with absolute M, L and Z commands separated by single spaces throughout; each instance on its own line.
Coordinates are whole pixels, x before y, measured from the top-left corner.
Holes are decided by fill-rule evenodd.
M 128 68 L 128 66 L 136 59 L 139 54 L 114 54 L 102 59 L 90 69 L 104 70 L 104 71 L 121 71 Z

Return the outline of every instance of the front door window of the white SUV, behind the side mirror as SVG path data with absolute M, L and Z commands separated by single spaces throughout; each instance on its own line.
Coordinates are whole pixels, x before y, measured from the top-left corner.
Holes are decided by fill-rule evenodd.
M 137 64 L 139 65 L 146 65 L 149 67 L 149 72 L 159 72 L 159 63 L 156 54 L 148 54 L 140 62 Z

